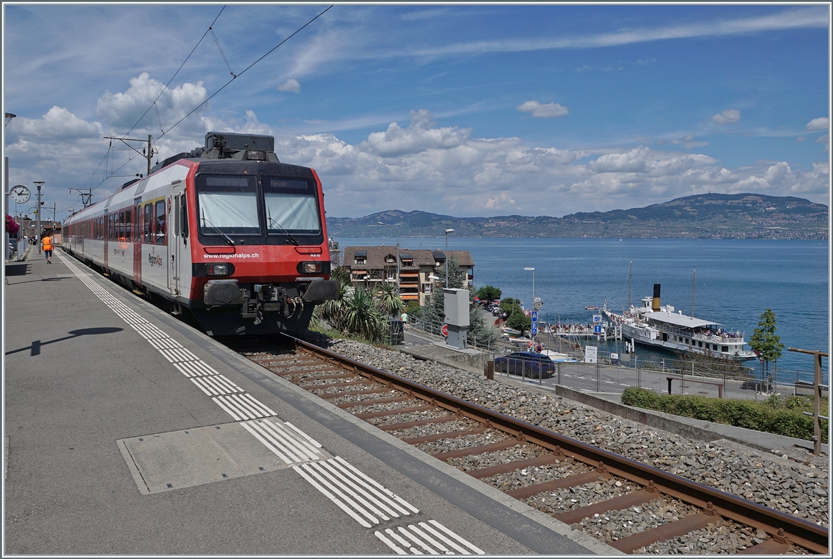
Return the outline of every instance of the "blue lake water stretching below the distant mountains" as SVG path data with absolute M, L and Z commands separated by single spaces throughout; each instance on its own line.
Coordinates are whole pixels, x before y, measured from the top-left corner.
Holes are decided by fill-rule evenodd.
M 346 246 L 392 245 L 391 238 L 336 239 Z M 400 249 L 445 250 L 445 237 L 402 238 Z M 448 237 L 449 250 L 468 250 L 475 288 L 494 285 L 528 309 L 535 296 L 541 320 L 590 322 L 586 306 L 621 312 L 628 303 L 628 266 L 633 260 L 631 304 L 661 284 L 662 304 L 740 330 L 751 338 L 761 313 L 776 314 L 785 344 L 779 369 L 812 370 L 810 355 L 787 347 L 828 351 L 827 240 L 717 239 L 492 239 Z M 827 359 L 823 359 L 825 371 Z M 756 362 L 747 362 L 755 366 Z M 779 375 L 781 376 L 781 375 Z M 826 375 L 825 375 L 826 376 Z

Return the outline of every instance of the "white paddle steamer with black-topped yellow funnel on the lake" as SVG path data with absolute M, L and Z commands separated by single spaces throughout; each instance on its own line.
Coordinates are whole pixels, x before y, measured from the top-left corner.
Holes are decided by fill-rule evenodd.
M 622 337 L 636 344 L 650 345 L 675 353 L 701 354 L 722 359 L 746 361 L 756 359 L 741 332 L 723 329 L 712 320 L 695 319 L 674 311 L 670 304 L 660 304 L 660 284 L 654 284 L 654 296 L 643 297 L 641 307 L 616 314 L 602 307 L 605 319 L 621 328 Z

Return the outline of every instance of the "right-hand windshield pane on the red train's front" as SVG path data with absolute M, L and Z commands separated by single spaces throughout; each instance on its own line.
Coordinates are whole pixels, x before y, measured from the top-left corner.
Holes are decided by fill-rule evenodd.
M 321 233 L 315 186 L 307 181 L 263 177 L 267 233 L 316 235 Z

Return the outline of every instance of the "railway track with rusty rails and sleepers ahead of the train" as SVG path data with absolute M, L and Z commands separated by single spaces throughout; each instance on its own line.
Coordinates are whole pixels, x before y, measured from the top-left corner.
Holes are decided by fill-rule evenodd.
M 826 527 L 302 340 L 230 345 L 277 376 L 622 552 L 661 552 L 663 542 L 685 549 L 686 542 L 699 541 L 709 542 L 713 552 L 828 554 Z

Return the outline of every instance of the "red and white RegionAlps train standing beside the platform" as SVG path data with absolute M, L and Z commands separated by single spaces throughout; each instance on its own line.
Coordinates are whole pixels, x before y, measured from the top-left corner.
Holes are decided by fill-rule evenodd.
M 62 248 L 129 289 L 189 309 L 213 336 L 307 329 L 334 299 L 315 171 L 272 136 L 209 132 L 63 222 Z

